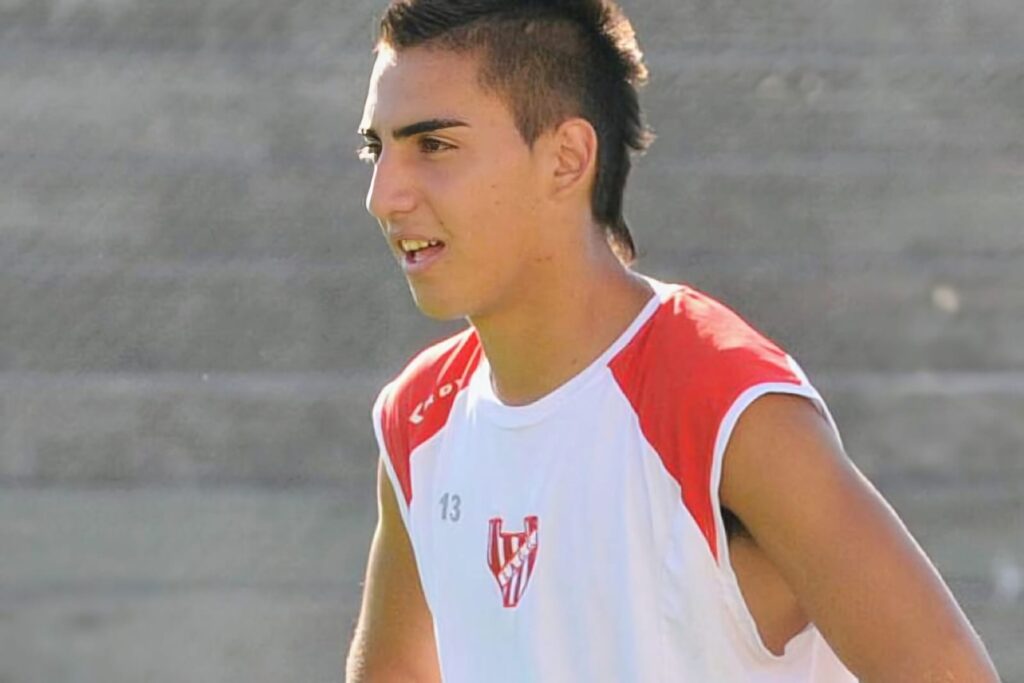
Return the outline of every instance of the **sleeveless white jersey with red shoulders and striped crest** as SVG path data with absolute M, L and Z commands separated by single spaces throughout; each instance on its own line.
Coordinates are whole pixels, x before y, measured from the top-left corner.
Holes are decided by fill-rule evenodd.
M 856 680 L 813 626 L 782 656 L 763 645 L 719 505 L 752 401 L 824 404 L 731 310 L 650 282 L 621 337 L 534 403 L 495 395 L 469 329 L 374 405 L 446 683 Z

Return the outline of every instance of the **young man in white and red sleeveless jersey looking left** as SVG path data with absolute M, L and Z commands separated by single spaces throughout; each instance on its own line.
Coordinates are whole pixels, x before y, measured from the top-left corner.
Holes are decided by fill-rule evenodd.
M 630 270 L 647 141 L 608 1 L 406 0 L 361 134 L 418 306 L 373 412 L 349 681 L 996 680 L 796 364 Z

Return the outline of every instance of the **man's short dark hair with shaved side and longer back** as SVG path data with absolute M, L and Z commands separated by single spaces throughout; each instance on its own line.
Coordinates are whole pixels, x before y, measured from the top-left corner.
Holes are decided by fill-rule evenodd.
M 598 138 L 595 220 L 626 263 L 636 247 L 623 216 L 630 153 L 653 139 L 637 88 L 647 68 L 612 0 L 392 0 L 377 48 L 436 45 L 479 51 L 480 83 L 502 95 L 527 144 L 580 116 Z

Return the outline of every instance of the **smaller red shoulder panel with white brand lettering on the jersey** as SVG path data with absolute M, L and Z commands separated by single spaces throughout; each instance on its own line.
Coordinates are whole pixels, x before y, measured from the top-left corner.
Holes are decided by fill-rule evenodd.
M 413 453 L 447 423 L 456 395 L 479 361 L 480 343 L 469 329 L 421 352 L 390 384 L 381 432 L 407 505 L 413 501 Z

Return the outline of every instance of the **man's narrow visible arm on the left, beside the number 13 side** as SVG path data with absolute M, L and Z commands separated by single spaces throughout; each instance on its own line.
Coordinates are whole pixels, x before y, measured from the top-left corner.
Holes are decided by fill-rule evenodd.
M 394 490 L 377 471 L 379 518 L 362 609 L 348 651 L 348 683 L 439 683 L 433 623 Z

